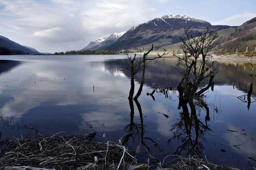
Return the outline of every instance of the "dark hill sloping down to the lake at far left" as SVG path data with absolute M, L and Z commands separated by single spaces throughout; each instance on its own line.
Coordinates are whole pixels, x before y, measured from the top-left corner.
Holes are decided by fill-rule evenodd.
M 10 39 L 0 35 L 0 51 L 7 54 L 39 54 L 35 49 L 22 46 Z

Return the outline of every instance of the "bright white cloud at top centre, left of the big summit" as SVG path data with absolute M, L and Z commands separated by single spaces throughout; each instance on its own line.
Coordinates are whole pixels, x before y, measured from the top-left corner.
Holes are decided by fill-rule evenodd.
M 136 0 L 96 1 L 93 6 L 90 6 L 91 8 L 81 13 L 82 26 L 93 33 L 99 33 L 102 28 L 107 30 L 108 34 L 114 32 L 110 31 L 113 29 L 127 31 L 138 23 L 148 21 L 150 19 L 148 13 L 154 12 L 154 8 L 144 10 L 146 6 L 142 2 Z

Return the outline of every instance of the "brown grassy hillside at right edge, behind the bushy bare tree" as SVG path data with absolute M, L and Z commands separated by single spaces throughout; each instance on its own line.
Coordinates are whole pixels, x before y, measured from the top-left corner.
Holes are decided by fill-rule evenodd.
M 236 52 L 254 51 L 256 47 L 256 17 L 242 25 L 218 31 L 214 53 L 217 55 Z M 237 50 L 237 51 L 236 51 Z

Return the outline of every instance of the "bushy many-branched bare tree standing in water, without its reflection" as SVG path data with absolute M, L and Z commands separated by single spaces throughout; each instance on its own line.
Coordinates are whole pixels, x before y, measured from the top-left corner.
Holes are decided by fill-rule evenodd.
M 190 29 L 185 29 L 185 37 L 182 38 L 182 50 L 184 55 L 179 56 L 173 53 L 178 58 L 177 67 L 183 75 L 177 90 L 179 92 L 179 106 L 192 102 L 212 85 L 214 75 L 217 73 L 214 68 L 214 62 L 207 60 L 207 57 L 212 57 L 210 52 L 213 49 L 214 39 L 217 37 L 216 31 L 211 31 L 209 28 L 193 35 Z M 209 78 L 208 85 L 201 90 L 198 90 L 201 82 Z

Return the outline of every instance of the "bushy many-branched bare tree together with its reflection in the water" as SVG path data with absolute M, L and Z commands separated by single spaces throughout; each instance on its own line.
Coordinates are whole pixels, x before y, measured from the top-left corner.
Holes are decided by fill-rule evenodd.
M 182 38 L 184 55 L 174 53 L 174 56 L 178 58 L 177 68 L 183 75 L 177 87 L 178 109 L 182 108 L 182 112 L 180 112 L 180 120 L 170 129 L 174 136 L 168 140 L 168 143 L 174 139 L 182 142 L 174 154 L 180 155 L 186 151 L 186 156 L 190 154 L 200 156 L 204 149 L 203 142 L 206 142 L 205 134 L 211 130 L 207 124 L 207 121 L 210 121 L 209 108 L 204 102 L 203 93 L 210 87 L 212 91 L 214 90 L 212 80 L 217 71 L 214 63 L 207 58 L 211 57 L 209 53 L 213 48 L 217 33 L 207 28 L 202 33 L 194 35 L 188 28 L 185 29 L 185 35 L 186 37 Z M 208 80 L 208 85 L 198 90 L 203 80 Z M 196 111 L 200 108 L 206 110 L 205 123 L 197 117 L 200 114 Z

